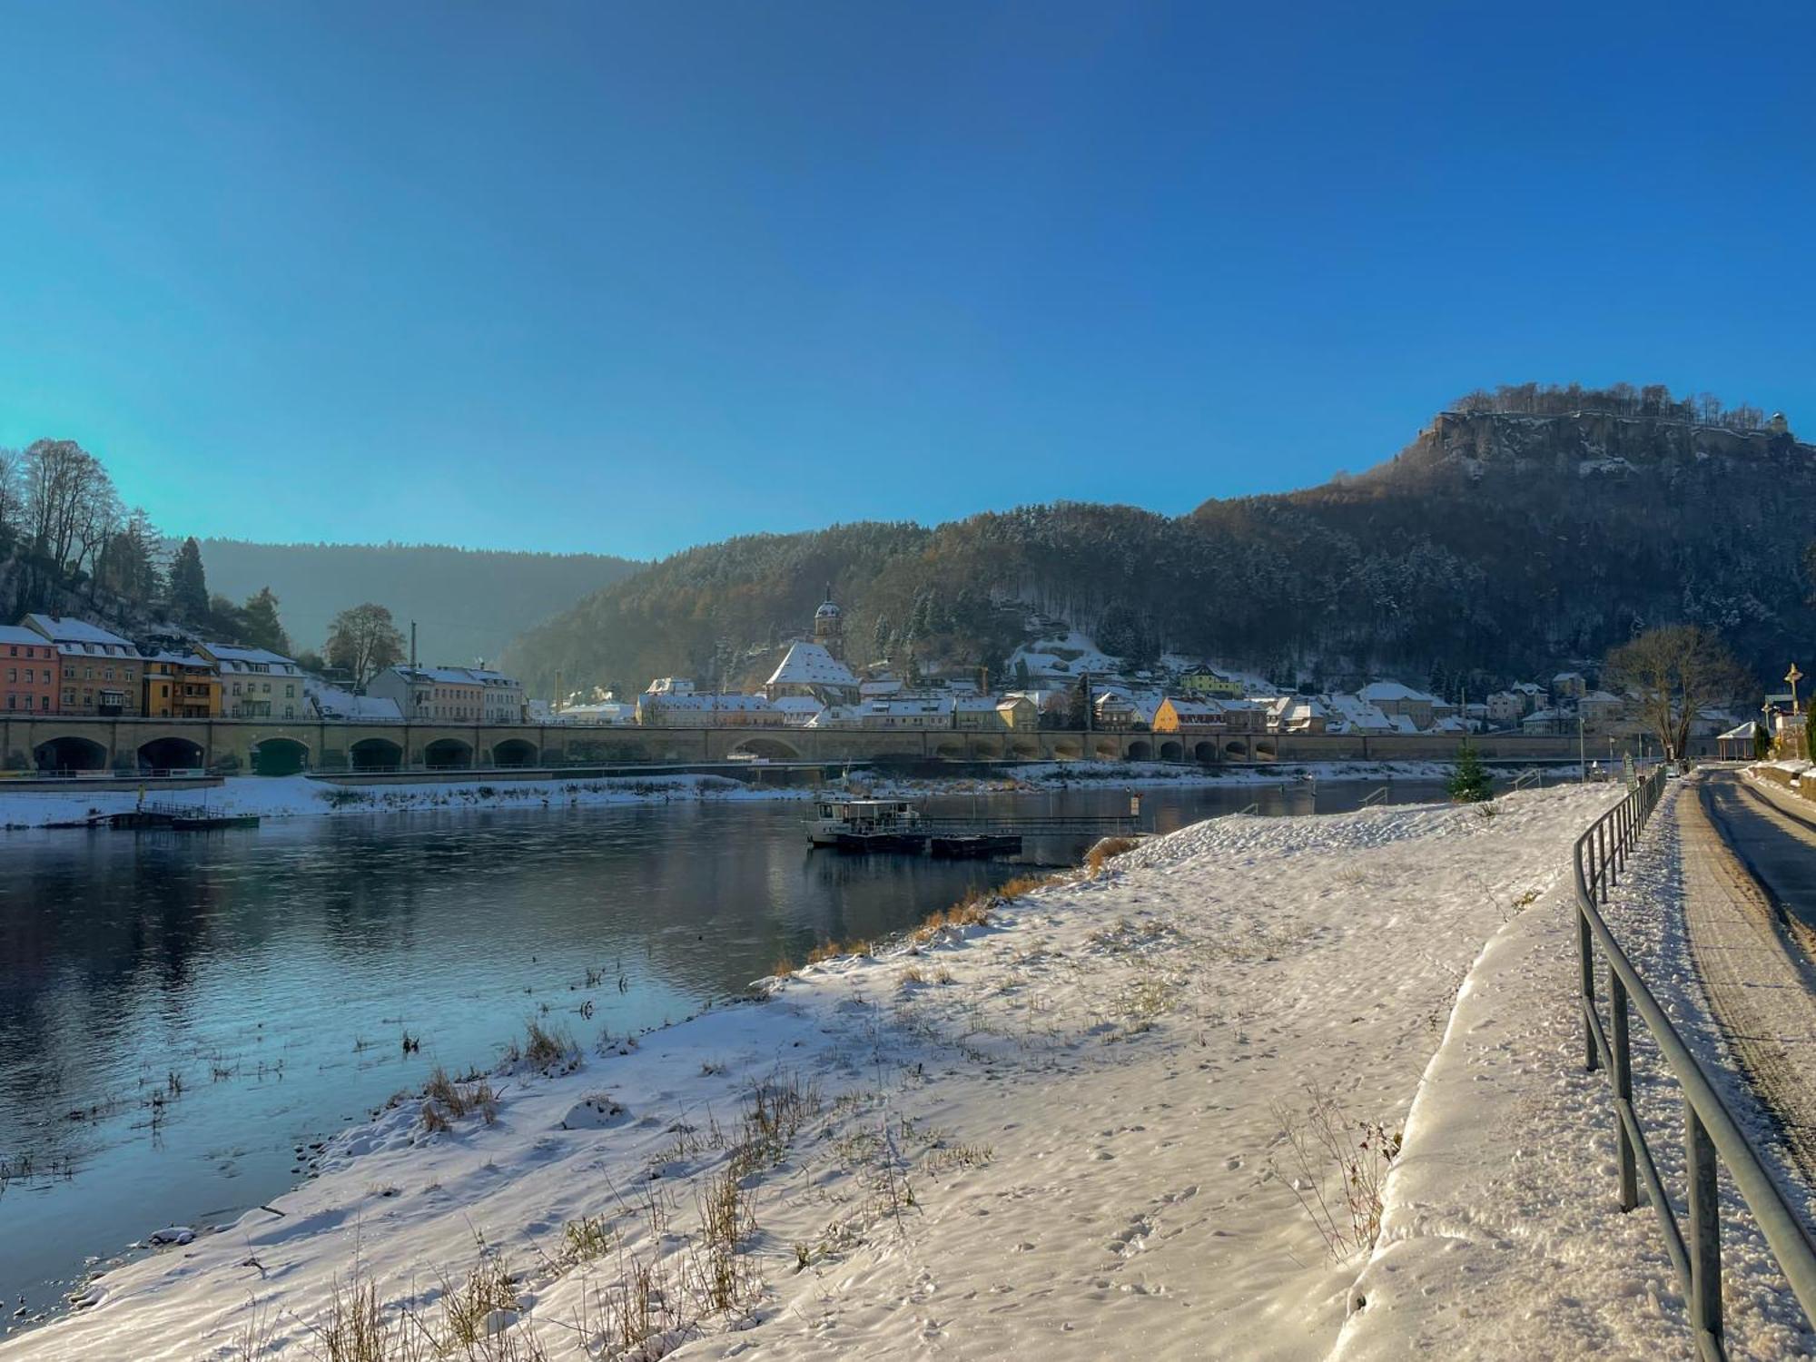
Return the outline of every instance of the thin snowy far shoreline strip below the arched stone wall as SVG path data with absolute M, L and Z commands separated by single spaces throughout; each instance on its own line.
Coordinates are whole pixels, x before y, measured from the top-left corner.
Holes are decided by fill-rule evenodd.
M 1278 766 L 1166 766 L 1160 763 L 1048 763 L 1010 779 L 932 777 L 864 779 L 852 783 L 881 797 L 941 795 L 1035 795 L 1057 790 L 1135 788 L 1188 790 L 1273 785 L 1353 783 L 1380 779 L 1438 781 L 1447 763 L 1431 761 L 1337 761 L 1282 763 Z M 432 781 L 421 785 L 336 785 L 307 775 L 229 775 L 220 786 L 158 790 L 165 804 L 207 808 L 220 814 L 254 814 L 262 819 L 349 817 L 416 812 L 592 808 L 610 804 L 656 804 L 676 799 L 699 801 L 806 801 L 812 786 L 752 786 L 723 775 L 607 775 L 587 779 Z M 80 832 L 91 817 L 127 814 L 138 804 L 133 790 L 9 790 L 0 786 L 0 832 Z M 65 824 L 65 826 L 53 826 Z

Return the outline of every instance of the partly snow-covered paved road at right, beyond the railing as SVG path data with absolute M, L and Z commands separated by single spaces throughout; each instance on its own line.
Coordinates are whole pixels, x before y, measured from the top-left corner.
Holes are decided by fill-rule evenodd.
M 1792 817 L 1734 772 L 1696 781 L 1674 808 L 1709 1006 L 1816 1177 L 1816 819 Z

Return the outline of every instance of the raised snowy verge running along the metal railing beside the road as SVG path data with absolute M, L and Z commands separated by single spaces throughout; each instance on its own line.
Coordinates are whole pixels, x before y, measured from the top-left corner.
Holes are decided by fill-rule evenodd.
M 1732 1073 L 1683 941 L 1678 795 L 1673 785 L 1604 915 L 1705 1068 Z M 1622 1215 L 1616 1202 L 1609 1079 L 1582 1062 L 1573 903 L 1560 873 L 1469 973 L 1407 1120 L 1382 1240 L 1353 1288 L 1367 1304 L 1344 1326 L 1344 1362 L 1694 1353 L 1651 1206 L 1642 1193 Z M 1682 1189 L 1678 1090 L 1638 1019 L 1633 1035 L 1649 1144 L 1665 1186 Z M 1769 1146 L 1771 1122 L 1742 1082 L 1722 1086 Z M 1722 1195 L 1729 1355 L 1809 1357 L 1816 1337 L 1725 1175 Z

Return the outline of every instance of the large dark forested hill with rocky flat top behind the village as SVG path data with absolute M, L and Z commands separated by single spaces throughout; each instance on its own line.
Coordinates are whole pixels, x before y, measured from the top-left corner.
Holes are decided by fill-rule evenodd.
M 830 583 L 855 661 L 903 656 L 912 636 L 923 661 L 1001 666 L 1039 612 L 1120 656 L 1475 688 L 1685 619 L 1781 674 L 1816 625 L 1816 449 L 1712 400 L 1547 396 L 1476 394 L 1366 474 L 1182 518 L 1061 503 L 694 548 L 530 630 L 507 661 L 539 692 L 556 670 L 568 686 L 750 679 Z

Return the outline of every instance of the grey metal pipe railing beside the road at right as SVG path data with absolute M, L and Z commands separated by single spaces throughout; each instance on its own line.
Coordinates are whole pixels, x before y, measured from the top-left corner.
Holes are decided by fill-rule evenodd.
M 1718 1164 L 1727 1164 L 1729 1177 L 1740 1189 L 1742 1200 L 1747 1202 L 1747 1209 L 1752 1211 L 1772 1258 L 1811 1322 L 1816 1322 L 1816 1244 L 1767 1173 L 1760 1151 L 1742 1133 L 1727 1102 L 1722 1100 L 1702 1064 L 1683 1044 L 1683 1037 L 1678 1035 L 1665 1010 L 1658 1006 L 1653 990 L 1640 979 L 1640 972 L 1633 968 L 1633 961 L 1614 941 L 1614 933 L 1596 908 L 1598 903 L 1607 903 L 1609 884 L 1625 873 L 1627 857 L 1663 790 L 1665 774 L 1653 772 L 1576 839 L 1576 952 L 1584 1015 L 1584 1068 L 1591 1073 L 1607 1068 L 1614 1084 L 1620 1209 L 1631 1211 L 1640 1204 L 1638 1184 L 1643 1180 L 1645 1199 L 1653 1204 L 1665 1237 L 1665 1253 L 1683 1284 L 1696 1351 L 1709 1362 L 1723 1362 L 1727 1346 L 1722 1331 Z M 1594 993 L 1598 944 L 1607 957 L 1609 1017 L 1605 1026 Z M 1683 1164 L 1689 1182 L 1685 1195 L 1687 1231 L 1678 1222 L 1633 1106 L 1629 1012 L 1640 1013 L 1665 1068 L 1682 1090 Z

